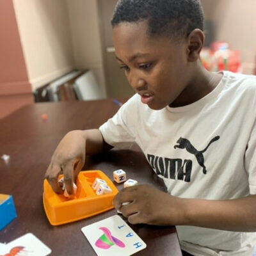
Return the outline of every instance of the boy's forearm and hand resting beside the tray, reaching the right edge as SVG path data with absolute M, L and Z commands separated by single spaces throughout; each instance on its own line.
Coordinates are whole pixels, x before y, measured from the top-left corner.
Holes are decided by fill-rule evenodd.
M 124 202 L 130 204 L 122 205 Z M 132 224 L 190 225 L 256 231 L 256 195 L 234 200 L 178 198 L 148 185 L 122 189 L 114 204 Z

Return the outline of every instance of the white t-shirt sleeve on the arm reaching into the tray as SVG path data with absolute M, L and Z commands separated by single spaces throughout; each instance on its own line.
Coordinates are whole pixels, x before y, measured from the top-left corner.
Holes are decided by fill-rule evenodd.
M 130 148 L 136 141 L 136 120 L 138 118 L 137 101 L 134 95 L 118 110 L 113 118 L 99 127 L 109 145 L 117 148 Z

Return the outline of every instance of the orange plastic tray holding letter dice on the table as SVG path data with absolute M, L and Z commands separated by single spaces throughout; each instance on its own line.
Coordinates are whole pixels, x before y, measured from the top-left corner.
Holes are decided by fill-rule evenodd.
M 63 175 L 60 175 L 60 177 Z M 105 180 L 112 193 L 97 195 L 92 188 L 96 178 Z M 80 172 L 77 178 L 77 193 L 73 199 L 55 193 L 44 180 L 44 209 L 51 225 L 61 225 L 81 220 L 113 209 L 113 198 L 118 189 L 109 177 L 100 170 Z

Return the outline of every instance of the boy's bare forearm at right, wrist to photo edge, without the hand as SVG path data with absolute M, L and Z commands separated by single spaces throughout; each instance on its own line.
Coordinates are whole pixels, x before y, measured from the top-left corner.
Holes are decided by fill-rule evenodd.
M 184 220 L 193 225 L 237 232 L 256 231 L 256 195 L 233 200 L 184 200 Z

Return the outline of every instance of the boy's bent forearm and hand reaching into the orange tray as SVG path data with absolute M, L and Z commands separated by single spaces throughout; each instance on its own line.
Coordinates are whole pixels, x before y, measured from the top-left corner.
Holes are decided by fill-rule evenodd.
M 58 176 L 63 172 L 65 187 L 68 194 L 72 195 L 73 182 L 76 181 L 77 175 L 84 166 L 86 154 L 99 154 L 110 148 L 99 129 L 68 132 L 54 151 L 45 179 L 49 181 L 56 193 L 63 193 L 58 183 Z

